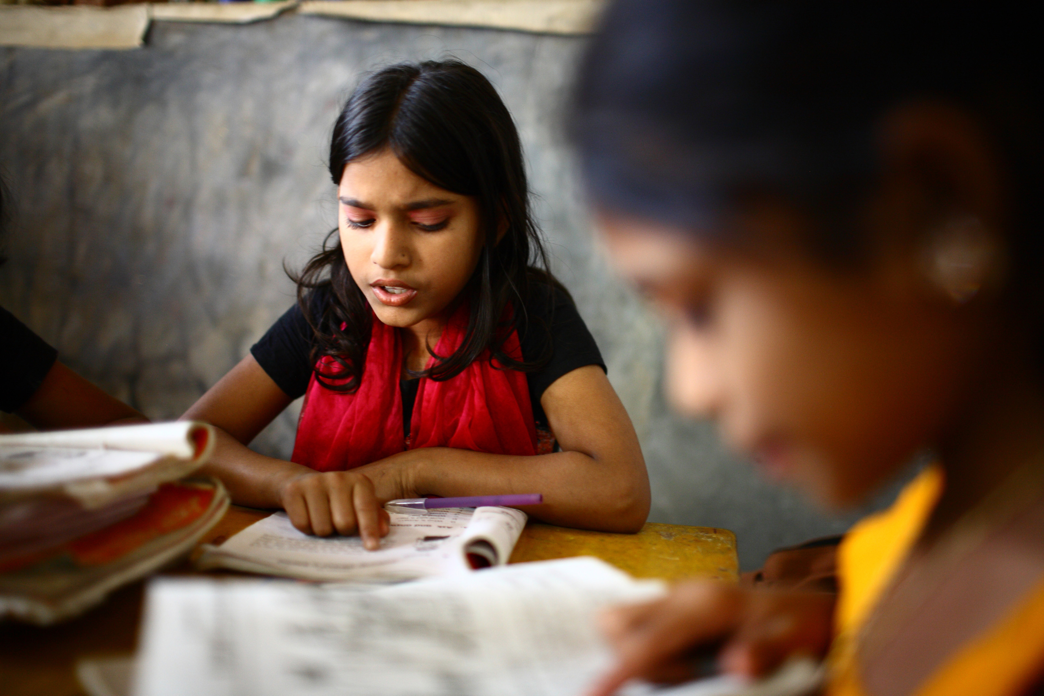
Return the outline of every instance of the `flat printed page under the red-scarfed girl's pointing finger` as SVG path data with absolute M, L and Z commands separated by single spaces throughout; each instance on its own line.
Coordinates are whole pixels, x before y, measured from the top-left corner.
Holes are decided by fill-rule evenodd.
M 460 539 L 471 509 L 390 518 L 380 549 L 367 551 L 358 536 L 311 536 L 298 531 L 286 512 L 276 512 L 208 549 L 198 562 L 309 580 L 411 580 L 468 570 Z

